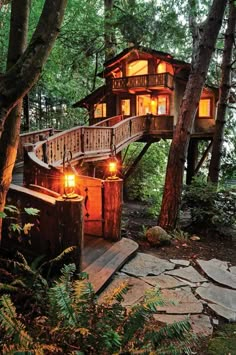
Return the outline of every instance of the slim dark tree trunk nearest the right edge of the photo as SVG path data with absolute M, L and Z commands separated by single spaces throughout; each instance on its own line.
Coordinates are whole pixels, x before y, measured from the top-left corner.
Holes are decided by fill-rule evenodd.
M 208 179 L 213 183 L 218 183 L 220 172 L 220 160 L 222 156 L 222 147 L 224 141 L 224 126 L 226 119 L 227 105 L 231 89 L 231 69 L 232 54 L 236 29 L 236 6 L 233 1 L 230 2 L 228 27 L 225 34 L 224 52 L 222 59 L 222 76 L 220 84 L 220 96 L 216 116 L 216 126 L 213 137 L 212 155 L 209 166 Z

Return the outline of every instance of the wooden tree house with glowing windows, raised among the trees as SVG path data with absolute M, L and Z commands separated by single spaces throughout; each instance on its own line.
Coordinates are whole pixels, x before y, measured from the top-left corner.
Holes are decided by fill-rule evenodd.
M 117 120 L 125 120 L 133 116 L 152 115 L 155 134 L 152 133 L 151 140 L 172 138 L 190 71 L 189 63 L 177 60 L 169 53 L 143 47 L 127 48 L 105 62 L 104 70 L 99 74 L 105 79 L 105 84 L 73 107 L 88 110 L 90 125 L 114 116 L 118 116 Z M 188 183 L 199 169 L 199 140 L 210 140 L 211 144 L 217 99 L 218 89 L 205 86 L 191 134 L 187 159 Z M 141 140 L 149 142 L 150 135 Z M 206 149 L 200 165 L 210 147 Z

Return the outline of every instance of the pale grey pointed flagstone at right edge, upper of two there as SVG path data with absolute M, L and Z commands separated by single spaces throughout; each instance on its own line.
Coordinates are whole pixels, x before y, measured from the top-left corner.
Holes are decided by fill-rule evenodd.
M 236 289 L 236 274 L 228 271 L 228 263 L 218 259 L 197 259 L 198 265 L 212 280 L 221 285 Z

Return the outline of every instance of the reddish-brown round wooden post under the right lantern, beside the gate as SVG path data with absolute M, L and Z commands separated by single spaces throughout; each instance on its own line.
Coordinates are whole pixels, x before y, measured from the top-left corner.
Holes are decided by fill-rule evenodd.
M 107 179 L 103 187 L 103 237 L 118 241 L 121 239 L 123 180 Z

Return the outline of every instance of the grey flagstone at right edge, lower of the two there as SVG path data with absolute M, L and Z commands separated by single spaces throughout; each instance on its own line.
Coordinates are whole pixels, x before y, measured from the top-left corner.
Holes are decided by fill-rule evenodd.
M 232 313 L 236 312 L 236 291 L 234 290 L 209 283 L 198 287 L 196 293 L 208 302 L 209 307 L 211 304 L 217 304 L 229 309 Z

